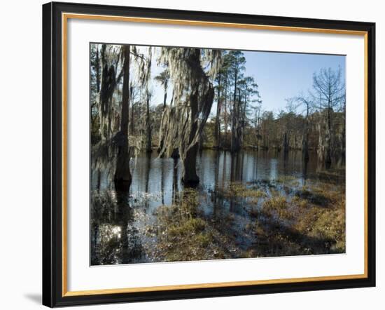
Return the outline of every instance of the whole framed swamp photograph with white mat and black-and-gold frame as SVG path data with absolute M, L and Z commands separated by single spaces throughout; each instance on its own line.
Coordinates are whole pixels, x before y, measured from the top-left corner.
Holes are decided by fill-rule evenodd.
M 43 304 L 374 286 L 374 31 L 43 5 Z

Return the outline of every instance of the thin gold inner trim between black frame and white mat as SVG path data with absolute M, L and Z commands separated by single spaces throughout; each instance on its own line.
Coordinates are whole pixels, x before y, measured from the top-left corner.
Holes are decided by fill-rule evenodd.
M 185 25 L 185 26 L 202 26 L 202 27 L 225 27 L 237 29 L 257 29 L 257 30 L 272 30 L 272 31 L 287 31 L 287 32 L 309 32 L 322 34 L 349 34 L 363 36 L 364 38 L 364 273 L 349 274 L 341 276 L 316 276 L 306 278 L 280 278 L 271 280 L 256 280 L 256 281 L 232 281 L 220 283 L 197 283 L 197 284 L 182 284 L 182 285 L 163 285 L 138 288 L 111 288 L 103 290 L 67 290 L 67 22 L 69 18 L 80 20 L 102 20 L 113 22 L 144 22 L 151 24 L 165 25 Z M 354 31 L 346 29 L 321 29 L 307 27 L 288 27 L 288 26 L 273 26 L 273 25 L 252 25 L 231 22 L 205 22 L 197 20 L 171 20 L 163 18 L 137 18 L 127 16 L 112 16 L 112 15 L 90 15 L 78 13 L 62 13 L 62 297 L 82 296 L 82 295 L 102 295 L 102 294 L 118 294 L 128 292 L 155 292 L 166 290 L 191 290 L 196 288 L 226 288 L 230 286 L 245 286 L 245 285 L 263 285 L 263 284 L 278 284 L 278 283 L 299 283 L 310 281 L 337 281 L 348 279 L 367 278 L 367 32 Z

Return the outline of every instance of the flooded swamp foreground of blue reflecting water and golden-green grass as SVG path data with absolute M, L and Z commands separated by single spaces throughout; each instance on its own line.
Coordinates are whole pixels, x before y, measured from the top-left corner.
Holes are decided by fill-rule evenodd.
M 139 154 L 130 166 L 126 190 L 92 170 L 92 265 L 344 252 L 344 231 L 322 231 L 328 217 L 343 224 L 344 208 L 316 199 L 344 203 L 323 179 L 342 184 L 344 169 L 319 173 L 316 154 L 203 150 L 196 189 L 183 187 L 179 159 Z

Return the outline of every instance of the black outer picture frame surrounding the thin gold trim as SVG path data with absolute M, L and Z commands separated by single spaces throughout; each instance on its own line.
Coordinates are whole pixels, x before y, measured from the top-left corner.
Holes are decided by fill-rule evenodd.
M 367 277 L 328 281 L 235 285 L 152 292 L 98 295 L 63 294 L 62 215 L 62 13 L 131 16 L 170 20 L 272 25 L 367 33 Z M 43 5 L 43 304 L 73 306 L 200 297 L 251 295 L 275 292 L 332 290 L 375 286 L 375 24 L 342 20 L 315 20 L 264 15 L 176 11 L 158 8 L 66 4 Z

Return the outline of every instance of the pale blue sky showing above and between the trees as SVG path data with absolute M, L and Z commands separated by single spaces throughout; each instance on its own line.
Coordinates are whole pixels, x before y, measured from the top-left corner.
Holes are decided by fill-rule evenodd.
M 278 113 L 286 107 L 286 98 L 295 97 L 300 93 L 306 94 L 313 84 L 314 72 L 322 68 L 338 69 L 341 67 L 345 76 L 344 55 L 321 55 L 301 53 L 276 53 L 244 51 L 246 58 L 246 76 L 253 76 L 258 83 L 262 110 Z M 162 68 L 153 62 L 151 74 L 156 76 Z M 168 100 L 171 90 L 168 90 Z M 163 89 L 159 83 L 153 83 L 152 105 L 158 105 L 163 100 Z M 211 108 L 211 114 L 216 112 L 216 102 Z

